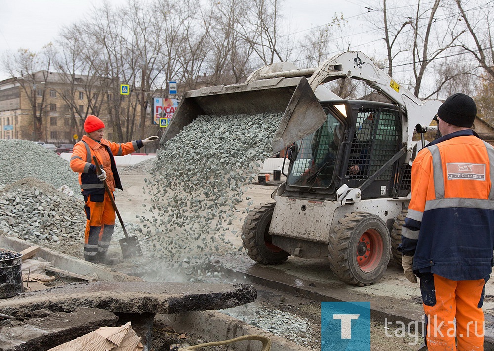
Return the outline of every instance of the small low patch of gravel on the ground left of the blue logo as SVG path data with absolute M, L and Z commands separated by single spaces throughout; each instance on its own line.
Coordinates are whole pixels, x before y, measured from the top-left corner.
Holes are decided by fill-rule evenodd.
M 221 312 L 256 326 L 262 330 L 291 340 L 298 345 L 310 347 L 308 338 L 313 328 L 308 318 L 300 318 L 289 312 L 272 310 L 265 307 L 234 307 Z

